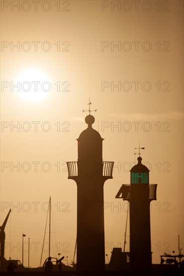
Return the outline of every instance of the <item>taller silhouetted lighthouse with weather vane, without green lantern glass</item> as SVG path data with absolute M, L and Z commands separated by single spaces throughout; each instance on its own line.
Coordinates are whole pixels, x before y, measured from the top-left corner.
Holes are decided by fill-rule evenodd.
M 77 272 L 80 275 L 105 271 L 104 183 L 112 179 L 114 162 L 103 161 L 102 139 L 93 129 L 94 116 L 85 117 L 88 125 L 78 139 L 78 161 L 67 162 L 68 179 L 77 185 Z M 85 111 L 85 110 L 83 110 Z

